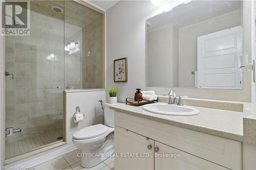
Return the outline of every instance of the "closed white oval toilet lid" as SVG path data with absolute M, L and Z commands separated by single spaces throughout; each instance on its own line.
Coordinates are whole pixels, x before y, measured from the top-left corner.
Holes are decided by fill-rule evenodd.
M 73 134 L 74 139 L 89 139 L 97 136 L 101 136 L 102 134 L 108 131 L 108 127 L 102 124 L 89 126 L 75 132 Z

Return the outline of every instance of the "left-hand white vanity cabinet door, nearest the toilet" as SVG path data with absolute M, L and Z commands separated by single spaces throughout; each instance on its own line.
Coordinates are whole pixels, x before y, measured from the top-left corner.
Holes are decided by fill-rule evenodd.
M 154 169 L 154 140 L 115 126 L 115 169 Z

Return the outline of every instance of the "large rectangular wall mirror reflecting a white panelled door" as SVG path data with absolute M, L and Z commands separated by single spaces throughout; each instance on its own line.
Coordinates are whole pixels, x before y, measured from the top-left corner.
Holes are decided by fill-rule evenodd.
M 243 87 L 242 1 L 191 1 L 146 20 L 147 87 Z

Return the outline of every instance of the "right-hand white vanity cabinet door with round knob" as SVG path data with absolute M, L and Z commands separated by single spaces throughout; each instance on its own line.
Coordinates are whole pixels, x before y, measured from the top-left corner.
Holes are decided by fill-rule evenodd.
M 166 144 L 155 141 L 155 169 L 227 169 L 218 164 L 201 159 Z M 164 155 L 165 154 L 165 155 Z M 168 155 L 166 155 L 168 154 Z M 173 155 L 172 155 L 173 154 Z M 179 154 L 179 157 L 178 157 Z M 175 156 L 176 155 L 176 156 Z

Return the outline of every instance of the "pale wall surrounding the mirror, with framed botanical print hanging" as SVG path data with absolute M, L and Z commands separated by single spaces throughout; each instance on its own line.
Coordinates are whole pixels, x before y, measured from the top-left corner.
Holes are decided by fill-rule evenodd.
M 174 3 L 174 1 L 172 2 Z M 156 14 L 159 7 L 150 1 L 120 1 L 106 11 L 106 87 L 119 89 L 118 101 L 133 97 L 135 89 L 156 90 L 166 94 L 175 89 L 179 95 L 229 101 L 251 101 L 251 73 L 244 75 L 244 88 L 234 89 L 195 89 L 195 88 L 146 88 L 145 85 L 145 20 Z M 244 16 L 246 17 L 246 15 Z M 244 25 L 244 33 L 248 32 Z M 250 34 L 250 33 L 248 33 Z M 248 44 L 244 43 L 244 50 Z M 128 82 L 114 83 L 113 60 L 127 57 Z

